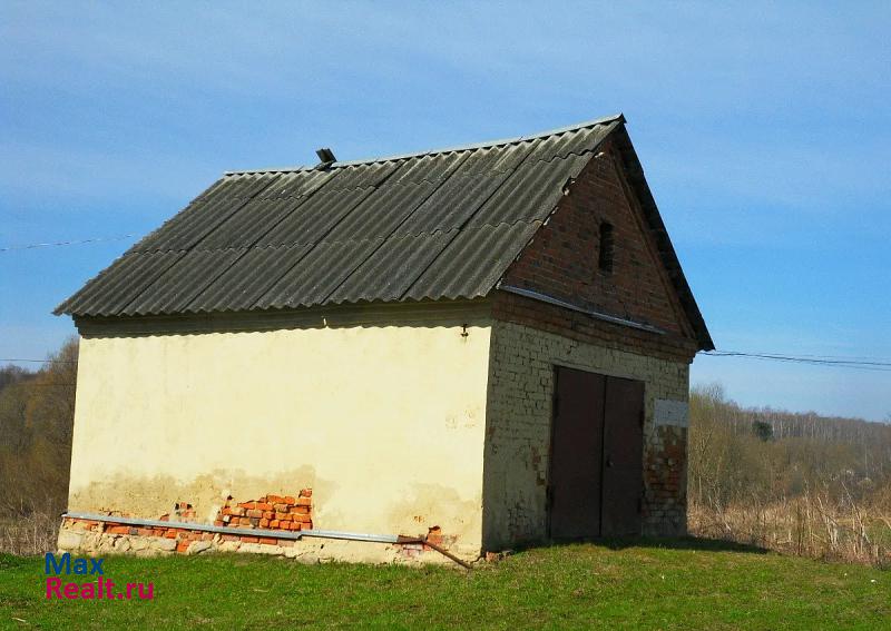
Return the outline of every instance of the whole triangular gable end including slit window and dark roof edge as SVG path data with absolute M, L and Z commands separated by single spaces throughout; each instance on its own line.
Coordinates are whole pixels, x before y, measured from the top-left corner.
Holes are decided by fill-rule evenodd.
M 624 127 L 570 183 L 499 288 L 714 347 Z

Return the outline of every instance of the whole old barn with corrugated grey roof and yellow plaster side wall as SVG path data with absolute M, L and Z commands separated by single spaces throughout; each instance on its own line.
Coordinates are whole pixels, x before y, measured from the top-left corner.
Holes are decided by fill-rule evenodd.
M 81 336 L 60 549 L 684 533 L 713 344 L 624 117 L 319 154 L 226 172 L 58 307 Z

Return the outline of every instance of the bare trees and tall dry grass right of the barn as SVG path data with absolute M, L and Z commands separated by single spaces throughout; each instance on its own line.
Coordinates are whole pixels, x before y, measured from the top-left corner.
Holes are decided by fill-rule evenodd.
M 688 450 L 692 533 L 891 563 L 891 424 L 745 408 L 696 386 Z

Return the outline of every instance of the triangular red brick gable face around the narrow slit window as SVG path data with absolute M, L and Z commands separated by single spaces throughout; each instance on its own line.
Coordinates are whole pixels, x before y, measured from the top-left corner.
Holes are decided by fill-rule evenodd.
M 647 230 L 611 141 L 601 146 L 502 286 L 538 292 L 601 314 L 652 325 L 672 337 L 693 328 Z M 600 226 L 613 226 L 611 272 L 599 268 Z

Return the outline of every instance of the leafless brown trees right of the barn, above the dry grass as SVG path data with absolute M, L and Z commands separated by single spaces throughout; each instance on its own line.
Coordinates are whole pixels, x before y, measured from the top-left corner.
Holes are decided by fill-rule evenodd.
M 829 489 L 872 496 L 891 483 L 891 424 L 745 408 L 719 385 L 691 393 L 688 493 L 715 507 Z

